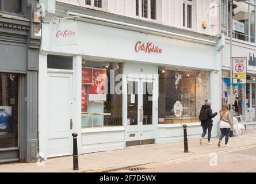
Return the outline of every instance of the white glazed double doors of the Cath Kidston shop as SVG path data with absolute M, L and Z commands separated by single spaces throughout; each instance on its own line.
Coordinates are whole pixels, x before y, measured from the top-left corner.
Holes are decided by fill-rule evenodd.
M 127 80 L 126 146 L 154 144 L 156 100 L 154 80 Z

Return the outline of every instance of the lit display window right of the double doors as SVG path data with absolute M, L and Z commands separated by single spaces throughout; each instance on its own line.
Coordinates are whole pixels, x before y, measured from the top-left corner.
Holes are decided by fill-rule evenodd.
M 209 94 L 209 72 L 160 70 L 159 124 L 199 122 L 201 106 Z

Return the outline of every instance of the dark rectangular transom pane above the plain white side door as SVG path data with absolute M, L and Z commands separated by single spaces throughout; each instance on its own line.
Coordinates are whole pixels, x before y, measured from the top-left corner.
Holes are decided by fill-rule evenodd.
M 66 57 L 66 56 L 48 55 L 47 68 L 73 70 L 73 59 L 72 57 Z

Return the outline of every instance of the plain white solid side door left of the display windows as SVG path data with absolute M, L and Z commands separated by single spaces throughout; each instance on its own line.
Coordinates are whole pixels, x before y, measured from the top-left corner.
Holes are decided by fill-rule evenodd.
M 72 155 L 72 77 L 48 72 L 48 158 Z

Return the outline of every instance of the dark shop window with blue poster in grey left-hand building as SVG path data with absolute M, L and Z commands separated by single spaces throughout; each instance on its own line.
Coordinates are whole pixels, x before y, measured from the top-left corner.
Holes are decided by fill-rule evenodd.
M 0 149 L 18 147 L 19 75 L 0 73 Z

